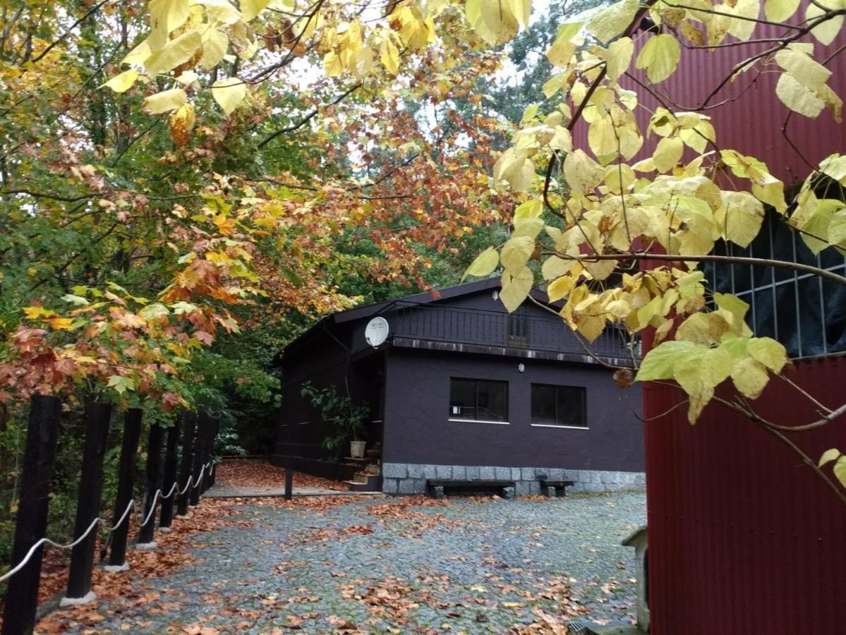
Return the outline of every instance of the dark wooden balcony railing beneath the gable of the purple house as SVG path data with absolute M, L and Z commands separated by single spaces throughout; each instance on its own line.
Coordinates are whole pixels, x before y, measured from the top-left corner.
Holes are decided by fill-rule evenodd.
M 402 337 L 426 342 L 587 354 L 569 326 L 554 315 L 546 317 L 520 311 L 508 314 L 443 305 L 398 304 L 382 317 L 388 322 L 389 339 Z M 359 351 L 366 346 L 364 326 L 360 326 L 354 331 L 353 350 Z M 606 328 L 589 348 L 600 358 L 631 357 L 623 333 L 613 327 Z

